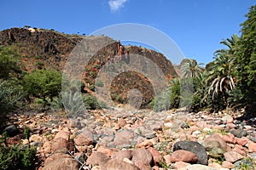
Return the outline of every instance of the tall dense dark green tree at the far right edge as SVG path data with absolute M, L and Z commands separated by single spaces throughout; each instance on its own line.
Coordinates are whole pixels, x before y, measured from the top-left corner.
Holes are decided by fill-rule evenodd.
M 236 51 L 237 85 L 244 94 L 247 104 L 256 100 L 256 5 L 246 14 L 241 24 L 241 41 Z

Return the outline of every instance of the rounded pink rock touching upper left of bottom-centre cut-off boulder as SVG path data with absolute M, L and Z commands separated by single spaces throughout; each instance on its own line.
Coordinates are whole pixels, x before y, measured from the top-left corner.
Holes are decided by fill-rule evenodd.
M 86 165 L 102 167 L 110 158 L 102 152 L 93 152 L 86 160 Z

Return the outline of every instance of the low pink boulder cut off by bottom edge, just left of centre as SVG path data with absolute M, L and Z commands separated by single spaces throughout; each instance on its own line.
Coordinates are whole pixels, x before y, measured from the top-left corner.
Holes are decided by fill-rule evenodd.
M 121 170 L 121 169 L 129 169 L 129 170 L 140 170 L 137 166 L 131 165 L 125 161 L 121 161 L 118 159 L 111 159 L 107 161 L 107 163 L 102 167 L 102 170 Z

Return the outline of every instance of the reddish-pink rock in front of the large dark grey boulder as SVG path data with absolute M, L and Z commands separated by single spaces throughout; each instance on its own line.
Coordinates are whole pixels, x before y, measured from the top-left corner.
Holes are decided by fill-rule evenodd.
M 185 161 L 189 163 L 195 163 L 197 161 L 197 157 L 193 152 L 187 150 L 176 150 L 172 153 L 171 160 L 172 162 Z

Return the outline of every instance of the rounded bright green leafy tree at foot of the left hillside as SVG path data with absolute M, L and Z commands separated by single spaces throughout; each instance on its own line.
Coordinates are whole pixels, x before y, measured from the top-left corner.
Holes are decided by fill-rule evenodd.
M 61 92 L 61 72 L 38 70 L 27 74 L 23 78 L 23 86 L 27 94 L 44 99 L 53 99 Z

